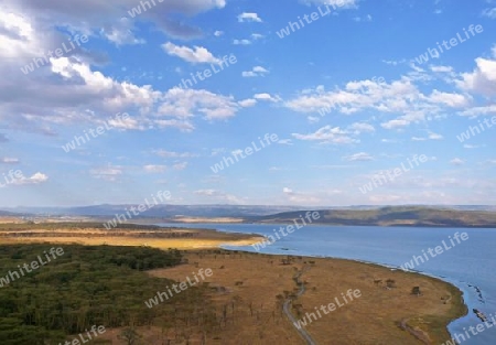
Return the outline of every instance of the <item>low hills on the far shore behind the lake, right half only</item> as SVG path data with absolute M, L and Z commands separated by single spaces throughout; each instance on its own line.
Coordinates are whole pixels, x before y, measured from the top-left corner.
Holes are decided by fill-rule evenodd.
M 496 212 L 459 211 L 441 207 L 389 206 L 378 209 L 316 209 L 321 218 L 314 223 L 355 226 L 429 226 L 496 228 Z M 305 211 L 271 216 L 247 217 L 247 223 L 291 223 Z

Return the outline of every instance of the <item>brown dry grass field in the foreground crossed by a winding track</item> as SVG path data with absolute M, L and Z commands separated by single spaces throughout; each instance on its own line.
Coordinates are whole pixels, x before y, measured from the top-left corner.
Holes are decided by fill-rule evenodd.
M 227 305 L 231 317 L 214 344 L 304 344 L 281 314 L 280 298 L 295 292 L 292 278 L 309 266 L 301 277 L 306 292 L 293 302 L 293 315 L 314 312 L 348 289 L 362 292 L 327 315 L 321 312 L 322 319 L 308 326 L 317 344 L 441 344 L 449 338 L 450 321 L 466 313 L 460 291 L 449 283 L 380 266 L 305 257 L 292 257 L 283 265 L 284 257 L 225 251 L 191 251 L 186 257 L 187 265 L 150 273 L 184 280 L 198 268 L 213 270 L 211 287 L 222 291 L 213 293 L 214 301 L 218 309 Z M 393 280 L 389 282 L 393 288 L 387 288 L 387 280 Z M 411 294 L 413 287 L 422 294 Z

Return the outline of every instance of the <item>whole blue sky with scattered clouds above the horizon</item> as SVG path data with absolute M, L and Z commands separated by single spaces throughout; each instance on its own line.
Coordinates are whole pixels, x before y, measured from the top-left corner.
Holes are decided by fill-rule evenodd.
M 0 207 L 496 205 L 495 33 L 496 0 L 1 0 Z

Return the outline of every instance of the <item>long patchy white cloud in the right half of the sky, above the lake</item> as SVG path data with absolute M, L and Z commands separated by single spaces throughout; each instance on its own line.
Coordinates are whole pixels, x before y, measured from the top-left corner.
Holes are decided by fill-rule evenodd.
M 419 72 L 416 72 L 419 73 Z M 342 87 L 326 90 L 324 86 L 304 89 L 284 106 L 293 111 L 321 116 L 341 112 L 353 115 L 363 111 L 378 111 L 396 116 L 384 120 L 385 129 L 400 129 L 410 123 L 425 121 L 428 117 L 440 115 L 449 109 L 467 107 L 472 97 L 466 93 L 443 93 L 436 89 L 421 91 L 417 78 L 402 76 L 390 83 L 384 79 L 353 80 Z

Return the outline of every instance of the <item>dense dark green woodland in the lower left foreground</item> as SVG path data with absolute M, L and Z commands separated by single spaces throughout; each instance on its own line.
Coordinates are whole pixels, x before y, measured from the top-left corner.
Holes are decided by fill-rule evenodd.
M 36 260 L 52 247 L 1 246 L 0 274 L 19 270 L 18 265 Z M 143 271 L 179 265 L 177 250 L 77 245 L 63 249 L 56 260 L 0 288 L 0 344 L 58 344 L 93 325 L 134 327 L 160 317 L 163 326 L 181 327 L 193 317 L 208 317 L 202 287 L 190 288 L 153 309 L 143 303 L 173 283 Z

